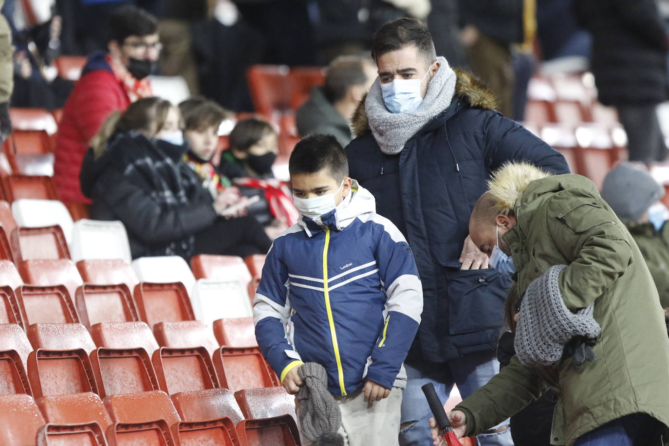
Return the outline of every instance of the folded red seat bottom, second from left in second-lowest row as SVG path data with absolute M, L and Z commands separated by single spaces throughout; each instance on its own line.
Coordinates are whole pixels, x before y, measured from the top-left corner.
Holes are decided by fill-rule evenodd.
M 28 380 L 35 399 L 83 392 L 99 393 L 88 354 L 83 348 L 34 350 L 28 355 Z

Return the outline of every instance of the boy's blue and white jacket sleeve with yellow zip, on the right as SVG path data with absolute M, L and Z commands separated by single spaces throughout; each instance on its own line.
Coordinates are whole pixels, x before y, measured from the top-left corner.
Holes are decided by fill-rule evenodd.
M 376 260 L 385 286 L 385 326 L 371 354 L 366 378 L 392 388 L 397 373 L 409 352 L 423 312 L 423 288 L 411 248 L 389 220 L 377 217 L 383 225 Z

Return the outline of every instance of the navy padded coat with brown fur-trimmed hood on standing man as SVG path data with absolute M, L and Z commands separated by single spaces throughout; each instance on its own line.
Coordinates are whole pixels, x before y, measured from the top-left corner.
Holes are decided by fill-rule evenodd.
M 479 80 L 456 73 L 450 106 L 400 154 L 381 152 L 364 99 L 353 117 L 357 138 L 346 148 L 351 177 L 405 235 L 423 283 L 421 325 L 407 362 L 443 362 L 496 347 L 511 279 L 494 269 L 462 271 L 458 261 L 490 173 L 508 160 L 569 173 L 559 152 L 493 110 L 494 95 Z

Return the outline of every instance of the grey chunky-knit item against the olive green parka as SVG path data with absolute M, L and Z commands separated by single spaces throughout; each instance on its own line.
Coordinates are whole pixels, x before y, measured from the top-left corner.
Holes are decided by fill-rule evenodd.
M 569 311 L 558 288 L 560 271 L 566 265 L 555 265 L 534 280 L 520 303 L 520 320 L 516 326 L 514 348 L 526 366 L 557 364 L 565 346 L 573 348 L 574 365 L 580 368 L 595 356 L 587 345 L 601 331 L 593 318 L 594 304 L 575 314 Z

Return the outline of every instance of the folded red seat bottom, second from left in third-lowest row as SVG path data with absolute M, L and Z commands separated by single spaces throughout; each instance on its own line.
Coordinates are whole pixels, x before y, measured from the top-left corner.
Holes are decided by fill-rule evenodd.
M 65 286 L 23 285 L 16 289 L 23 324 L 78 324 L 79 316 Z

